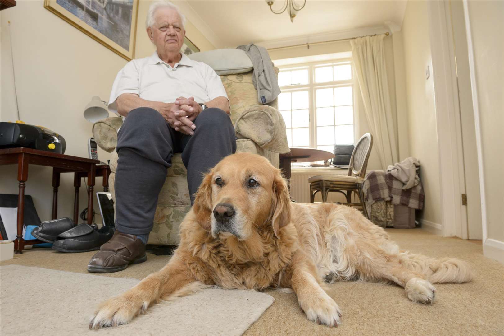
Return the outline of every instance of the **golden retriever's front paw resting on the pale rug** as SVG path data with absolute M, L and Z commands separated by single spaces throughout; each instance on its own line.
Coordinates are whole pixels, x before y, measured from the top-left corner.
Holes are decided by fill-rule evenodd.
M 136 295 L 124 293 L 103 302 L 89 322 L 90 329 L 114 327 L 126 324 L 143 313 L 149 302 L 141 300 Z

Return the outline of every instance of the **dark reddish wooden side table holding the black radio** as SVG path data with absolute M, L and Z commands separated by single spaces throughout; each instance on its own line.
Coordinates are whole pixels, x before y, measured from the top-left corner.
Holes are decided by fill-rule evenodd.
M 24 195 L 26 181 L 28 180 L 28 165 L 40 165 L 52 167 L 52 219 L 57 218 L 58 211 L 58 187 L 59 174 L 62 172 L 83 172 L 87 174 L 88 185 L 88 224 L 93 223 L 93 189 L 96 176 L 96 164 L 98 160 L 80 158 L 64 154 L 56 154 L 48 151 L 39 151 L 31 148 L 8 148 L 0 149 L 0 165 L 17 164 L 18 165 L 18 220 L 17 235 L 14 241 L 14 250 L 16 254 L 22 253 L 26 245 L 43 243 L 38 239 L 25 241 L 23 238 L 24 224 Z

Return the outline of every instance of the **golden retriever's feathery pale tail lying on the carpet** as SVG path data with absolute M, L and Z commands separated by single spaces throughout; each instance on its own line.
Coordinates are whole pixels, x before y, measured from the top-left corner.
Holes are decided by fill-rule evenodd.
M 471 266 L 456 258 L 435 259 L 421 254 L 403 254 L 402 264 L 423 274 L 431 283 L 462 283 L 472 279 Z

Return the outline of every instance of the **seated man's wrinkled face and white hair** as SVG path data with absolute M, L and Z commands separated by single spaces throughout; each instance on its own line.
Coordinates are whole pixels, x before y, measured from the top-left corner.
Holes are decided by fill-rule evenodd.
M 158 53 L 180 51 L 184 42 L 185 29 L 177 11 L 159 8 L 154 13 L 155 24 L 147 28 L 147 34 L 156 45 Z

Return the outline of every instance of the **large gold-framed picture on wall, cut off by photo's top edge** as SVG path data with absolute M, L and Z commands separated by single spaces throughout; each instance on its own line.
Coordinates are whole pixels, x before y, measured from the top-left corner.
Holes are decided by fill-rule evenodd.
M 45 0 L 44 7 L 131 61 L 139 0 Z

